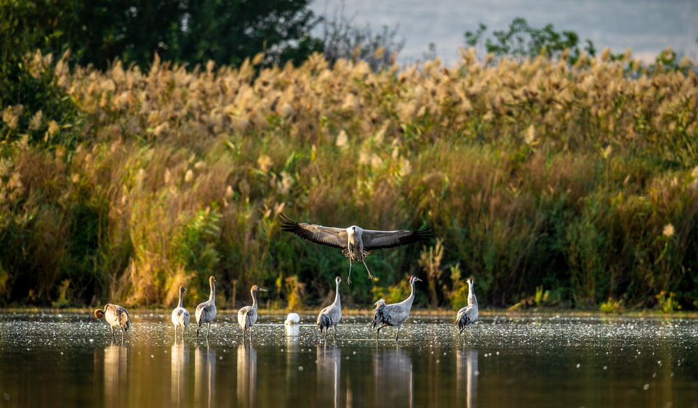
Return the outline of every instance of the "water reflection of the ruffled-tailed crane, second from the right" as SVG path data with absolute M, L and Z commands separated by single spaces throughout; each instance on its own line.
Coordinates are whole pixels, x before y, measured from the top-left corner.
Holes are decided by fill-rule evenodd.
M 377 405 L 413 407 L 412 359 L 397 345 L 394 349 L 373 352 L 373 377 L 376 379 Z

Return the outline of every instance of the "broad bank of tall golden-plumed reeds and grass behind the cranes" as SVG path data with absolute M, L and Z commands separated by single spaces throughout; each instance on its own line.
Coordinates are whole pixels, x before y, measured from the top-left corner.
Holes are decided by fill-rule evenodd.
M 486 306 L 549 291 L 562 307 L 666 308 L 661 293 L 671 309 L 698 307 L 688 61 L 648 70 L 604 52 L 482 65 L 468 50 L 456 68 L 380 73 L 318 55 L 298 68 L 257 71 L 260 61 L 187 70 L 155 59 L 147 73 L 116 61 L 102 73 L 59 59 L 54 80 L 84 116 L 73 144 L 24 137 L 34 130 L 17 125 L 17 107 L 1 107 L 0 304 L 164 306 L 181 284 L 197 303 L 215 275 L 228 307 L 249 303 L 252 284 L 271 291 L 270 306 L 319 305 L 348 261 L 281 234 L 283 211 L 336 226 L 433 224 L 443 257 L 422 305 L 462 305 L 473 276 Z M 31 116 L 46 132 L 50 118 Z M 369 256 L 378 281 L 355 270 L 349 304 L 404 295 L 420 250 Z

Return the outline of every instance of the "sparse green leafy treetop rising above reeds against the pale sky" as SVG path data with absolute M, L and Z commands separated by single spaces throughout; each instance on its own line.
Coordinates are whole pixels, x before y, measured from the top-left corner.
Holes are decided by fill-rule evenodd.
M 477 30 L 466 31 L 466 45 L 476 47 L 482 41 L 487 32 L 487 26 L 480 23 Z M 556 32 L 553 24 L 547 24 L 542 29 L 535 29 L 528 25 L 526 19 L 517 17 L 509 24 L 507 31 L 493 31 L 493 38 L 484 41 L 484 48 L 494 57 L 507 56 L 523 61 L 527 57 L 536 57 L 541 52 L 550 58 L 559 58 L 565 50 L 570 50 L 570 61 L 579 59 L 581 52 L 579 48 L 579 36 L 574 31 Z M 584 50 L 590 56 L 596 54 L 596 49 L 591 40 L 586 40 Z

